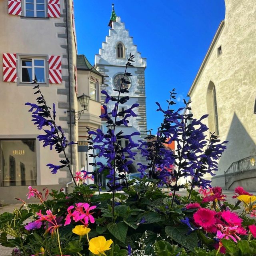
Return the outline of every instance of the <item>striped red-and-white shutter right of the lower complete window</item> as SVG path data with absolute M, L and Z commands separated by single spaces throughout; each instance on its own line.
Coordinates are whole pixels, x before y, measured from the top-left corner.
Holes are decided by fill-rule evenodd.
M 49 83 L 61 84 L 61 57 L 56 55 L 49 55 Z

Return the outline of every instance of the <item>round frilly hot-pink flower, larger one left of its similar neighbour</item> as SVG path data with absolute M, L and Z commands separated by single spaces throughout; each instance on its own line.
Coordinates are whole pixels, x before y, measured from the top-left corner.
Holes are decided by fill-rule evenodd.
M 213 226 L 216 223 L 214 216 L 214 211 L 205 208 L 200 208 L 193 215 L 196 224 L 202 226 L 203 228 L 209 228 L 210 226 Z

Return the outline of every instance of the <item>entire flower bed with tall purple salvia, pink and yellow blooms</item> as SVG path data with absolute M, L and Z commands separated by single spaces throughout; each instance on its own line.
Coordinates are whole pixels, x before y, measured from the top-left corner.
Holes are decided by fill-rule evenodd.
M 60 164 L 48 164 L 52 174 L 68 168 L 74 181 L 72 193 L 46 188 L 39 192 L 28 187 L 28 199 L 36 197 L 39 204 L 26 204 L 22 199 L 20 209 L 0 215 L 0 243 L 14 247 L 13 255 L 42 256 L 185 256 L 185 255 L 256 255 L 256 196 L 243 188 L 235 190 L 237 203 L 226 201 L 219 187 L 211 188 L 206 174 L 218 170 L 217 160 L 227 142 L 220 142 L 210 134 L 203 123 L 190 113 L 190 102 L 184 108 L 173 110 L 175 90 L 170 92 L 168 108 L 160 104 L 164 120 L 156 136 L 148 130 L 145 140 L 134 142 L 132 134 L 116 132 L 116 127 L 128 126 L 129 118 L 136 117 L 133 104 L 118 111 L 119 105 L 129 100 L 125 76 L 132 76 L 127 69 L 132 66 L 130 54 L 118 96 L 106 91 L 106 104 L 115 103 L 113 110 L 104 105 L 100 118 L 108 120 L 108 131 L 88 128 L 89 150 L 93 152 L 94 172 L 76 172 L 74 176 L 66 148 L 68 143 L 62 128 L 55 122 L 55 105 L 51 110 L 40 88 L 34 81 L 37 104 L 26 103 L 32 112 L 32 121 L 42 135 L 38 139 L 64 154 Z M 129 141 L 124 148 L 118 140 Z M 175 142 L 171 151 L 164 144 Z M 134 150 L 140 150 L 147 164 L 138 163 L 140 177 L 128 180 L 128 166 L 135 160 Z M 99 154 L 96 154 L 96 150 Z M 98 157 L 106 164 L 96 162 Z M 108 192 L 99 183 L 99 176 L 108 173 Z M 86 182 L 94 179 L 96 184 Z M 188 180 L 180 184 L 181 180 Z M 177 192 L 185 188 L 186 196 Z M 199 188 L 195 190 L 194 188 Z M 169 190 L 165 192 L 165 190 Z M 25 223 L 26 222 L 26 223 Z M 27 223 L 28 222 L 28 223 Z

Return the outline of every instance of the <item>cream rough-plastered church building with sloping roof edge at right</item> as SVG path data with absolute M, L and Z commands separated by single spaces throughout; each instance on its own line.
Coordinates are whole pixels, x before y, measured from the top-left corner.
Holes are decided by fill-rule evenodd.
M 255 190 L 256 4 L 254 0 L 225 0 L 225 4 L 225 20 L 188 96 L 194 116 L 209 114 L 205 121 L 209 131 L 228 140 L 212 186 Z

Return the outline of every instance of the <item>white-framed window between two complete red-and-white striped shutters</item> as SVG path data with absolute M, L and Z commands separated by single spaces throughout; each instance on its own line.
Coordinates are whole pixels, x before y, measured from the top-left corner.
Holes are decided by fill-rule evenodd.
M 39 84 L 45 84 L 45 63 L 44 58 L 21 58 L 20 82 L 31 83 L 35 79 Z

